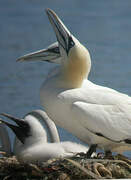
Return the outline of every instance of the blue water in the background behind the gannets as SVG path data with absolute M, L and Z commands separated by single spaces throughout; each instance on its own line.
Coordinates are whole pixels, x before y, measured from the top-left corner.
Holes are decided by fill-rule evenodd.
M 90 80 L 131 95 L 130 0 L 0 0 L 0 112 L 23 117 L 41 108 L 39 88 L 53 65 L 16 59 L 56 40 L 45 8 L 55 10 L 89 49 Z M 64 130 L 60 134 L 77 141 Z

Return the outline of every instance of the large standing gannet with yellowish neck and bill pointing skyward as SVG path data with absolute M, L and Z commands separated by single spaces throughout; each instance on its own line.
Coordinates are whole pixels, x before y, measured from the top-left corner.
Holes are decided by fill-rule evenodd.
M 88 50 L 69 32 L 54 11 L 47 9 L 58 45 L 20 57 L 20 61 L 61 60 L 59 69 L 43 83 L 40 99 L 48 116 L 90 145 L 106 152 L 131 150 L 131 97 L 88 80 Z M 53 53 L 53 57 L 52 56 Z M 57 57 L 56 57 L 57 55 Z M 50 58 L 51 57 L 51 58 Z

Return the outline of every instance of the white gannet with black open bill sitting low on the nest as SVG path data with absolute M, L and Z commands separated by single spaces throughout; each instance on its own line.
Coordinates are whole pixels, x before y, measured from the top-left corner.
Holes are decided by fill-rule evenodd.
M 24 162 L 42 162 L 51 158 L 69 157 L 80 152 L 86 152 L 88 147 L 73 143 L 60 142 L 55 124 L 45 112 L 36 110 L 28 113 L 24 119 L 1 114 L 13 120 L 16 125 L 0 119 L 13 130 L 17 136 L 14 144 L 14 154 Z M 43 120 L 50 133 L 51 142 L 47 142 L 47 134 L 39 120 Z

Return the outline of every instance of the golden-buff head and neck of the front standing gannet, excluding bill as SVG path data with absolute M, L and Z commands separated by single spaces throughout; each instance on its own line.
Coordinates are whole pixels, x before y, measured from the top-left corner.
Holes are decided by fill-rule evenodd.
M 70 48 L 67 56 L 63 58 L 64 77 L 73 87 L 80 87 L 83 80 L 88 78 L 91 69 L 91 59 L 88 50 L 72 37 L 74 46 Z

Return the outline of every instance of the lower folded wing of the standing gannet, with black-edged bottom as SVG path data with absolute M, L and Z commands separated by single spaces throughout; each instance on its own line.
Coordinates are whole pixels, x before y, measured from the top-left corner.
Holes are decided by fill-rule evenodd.
M 100 105 L 77 101 L 72 112 L 89 131 L 114 142 L 131 143 L 131 105 Z

